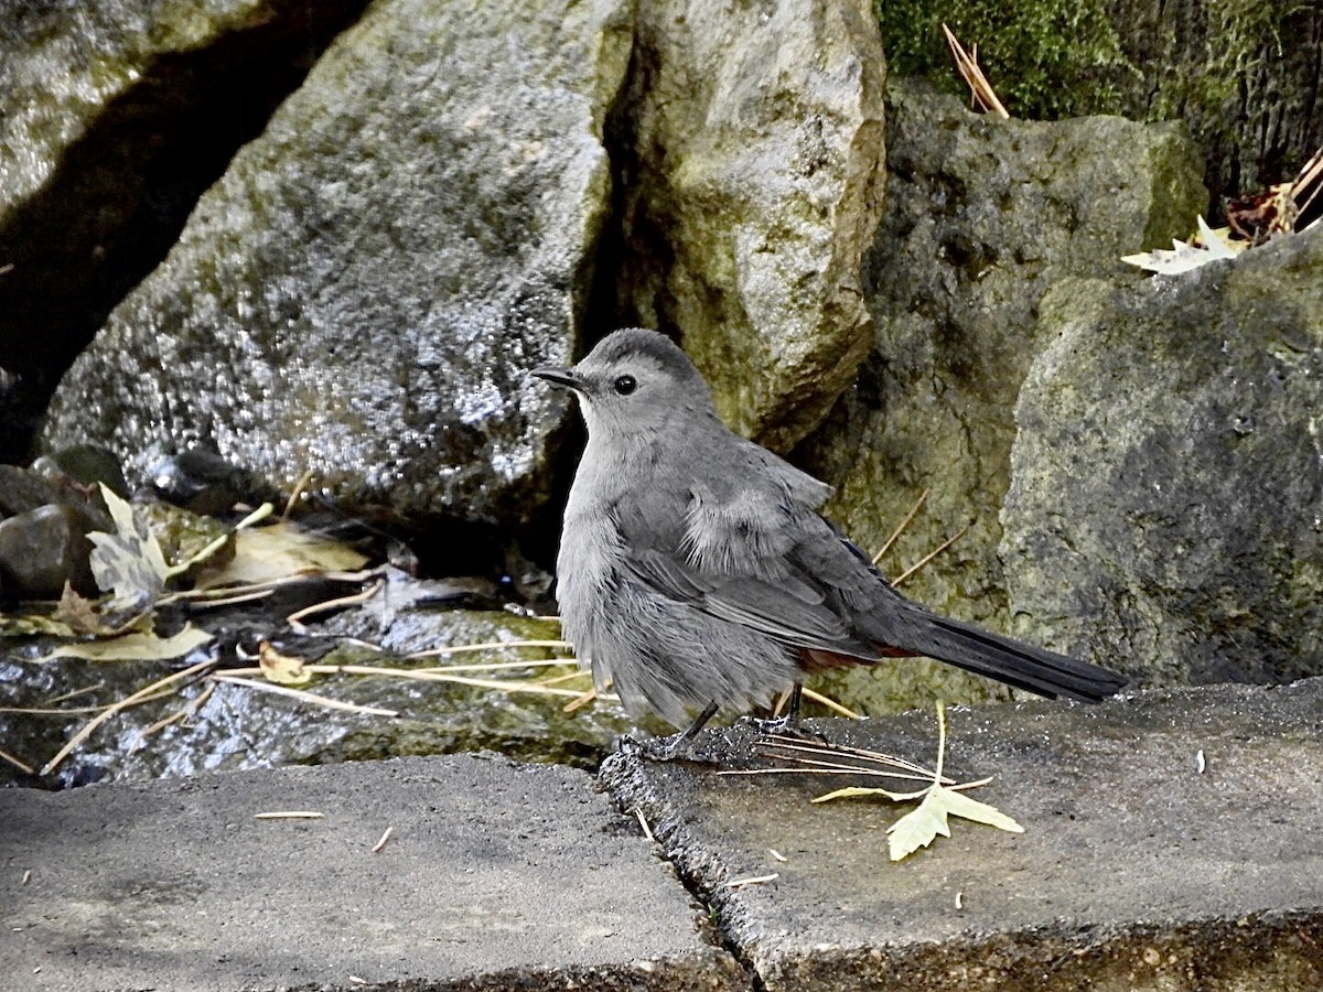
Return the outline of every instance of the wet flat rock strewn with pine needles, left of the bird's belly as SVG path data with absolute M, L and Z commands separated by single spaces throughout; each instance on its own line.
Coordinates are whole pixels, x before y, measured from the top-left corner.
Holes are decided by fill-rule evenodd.
M 614 701 L 566 713 L 566 704 L 591 682 L 586 675 L 574 677 L 573 667 L 548 667 L 545 661 L 557 656 L 552 649 L 500 647 L 519 640 L 554 643 L 560 638 L 554 620 L 429 602 L 445 600 L 452 586 L 389 574 L 386 587 L 368 602 L 308 619 L 296 631 L 286 622 L 288 614 L 359 594 L 372 581 L 308 581 L 284 587 L 261 606 L 198 607 L 187 614 L 171 607 L 156 619 L 163 634 L 176 632 L 187 616 L 216 635 L 205 649 L 180 660 L 38 661 L 65 641 L 0 639 L 0 737 L 7 751 L 33 770 L 42 768 L 101 708 L 189 664 L 208 657 L 216 663 L 160 700 L 116 713 L 46 776 L 4 765 L 0 780 L 67 788 L 480 750 L 595 768 L 619 735 L 639 733 Z M 292 686 L 318 700 L 282 694 L 288 686 L 254 671 L 263 641 L 306 664 L 340 671 L 319 672 Z M 443 651 L 471 644 L 488 647 Z M 418 651 L 435 653 L 405 657 Z M 446 671 L 419 671 L 437 668 Z M 242 681 L 228 681 L 235 676 Z M 541 685 L 553 676 L 560 677 Z M 664 730 L 656 722 L 646 726 Z

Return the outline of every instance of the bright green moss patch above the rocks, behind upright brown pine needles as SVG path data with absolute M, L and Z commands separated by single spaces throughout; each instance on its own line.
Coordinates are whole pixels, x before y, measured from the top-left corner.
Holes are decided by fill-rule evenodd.
M 889 71 L 967 93 L 942 24 L 978 60 L 1007 110 L 1056 120 L 1121 108 L 1118 81 L 1134 73 L 1103 0 L 878 0 Z

